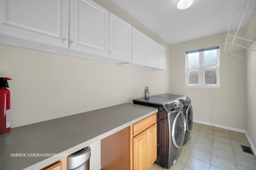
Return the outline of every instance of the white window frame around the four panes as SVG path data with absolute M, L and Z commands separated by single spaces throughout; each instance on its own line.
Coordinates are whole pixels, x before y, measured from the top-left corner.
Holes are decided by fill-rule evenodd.
M 204 66 L 204 51 L 209 51 L 210 49 L 217 50 L 217 64 L 216 66 Z M 199 66 L 189 68 L 188 67 L 188 53 L 199 53 Z M 204 84 L 205 82 L 205 70 L 206 69 L 217 69 L 217 83 L 216 84 Z M 198 70 L 198 84 L 189 84 L 188 83 L 188 72 L 189 70 Z M 198 49 L 193 51 L 186 52 L 186 86 L 188 88 L 220 88 L 220 49 L 217 47 L 209 47 L 204 49 Z

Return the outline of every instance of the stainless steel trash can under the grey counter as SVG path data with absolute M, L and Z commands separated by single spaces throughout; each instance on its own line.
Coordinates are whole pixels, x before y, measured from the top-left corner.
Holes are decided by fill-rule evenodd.
M 90 170 L 90 147 L 78 150 L 67 157 L 67 170 Z

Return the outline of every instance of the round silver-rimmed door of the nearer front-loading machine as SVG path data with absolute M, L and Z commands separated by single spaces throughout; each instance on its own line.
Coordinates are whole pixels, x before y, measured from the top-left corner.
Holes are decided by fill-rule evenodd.
M 183 145 L 185 128 L 186 122 L 184 120 L 184 114 L 182 111 L 178 111 L 172 125 L 172 142 L 177 149 L 180 149 Z

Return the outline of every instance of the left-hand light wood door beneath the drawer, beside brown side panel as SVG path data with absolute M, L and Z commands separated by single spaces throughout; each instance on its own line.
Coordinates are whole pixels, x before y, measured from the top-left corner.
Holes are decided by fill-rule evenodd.
M 146 131 L 133 138 L 133 169 L 134 170 L 147 170 L 146 161 Z

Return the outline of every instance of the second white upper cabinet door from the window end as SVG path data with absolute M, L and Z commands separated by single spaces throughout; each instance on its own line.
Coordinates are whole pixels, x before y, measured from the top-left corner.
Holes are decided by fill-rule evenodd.
M 147 37 L 147 66 L 157 67 L 158 66 L 158 43 Z

